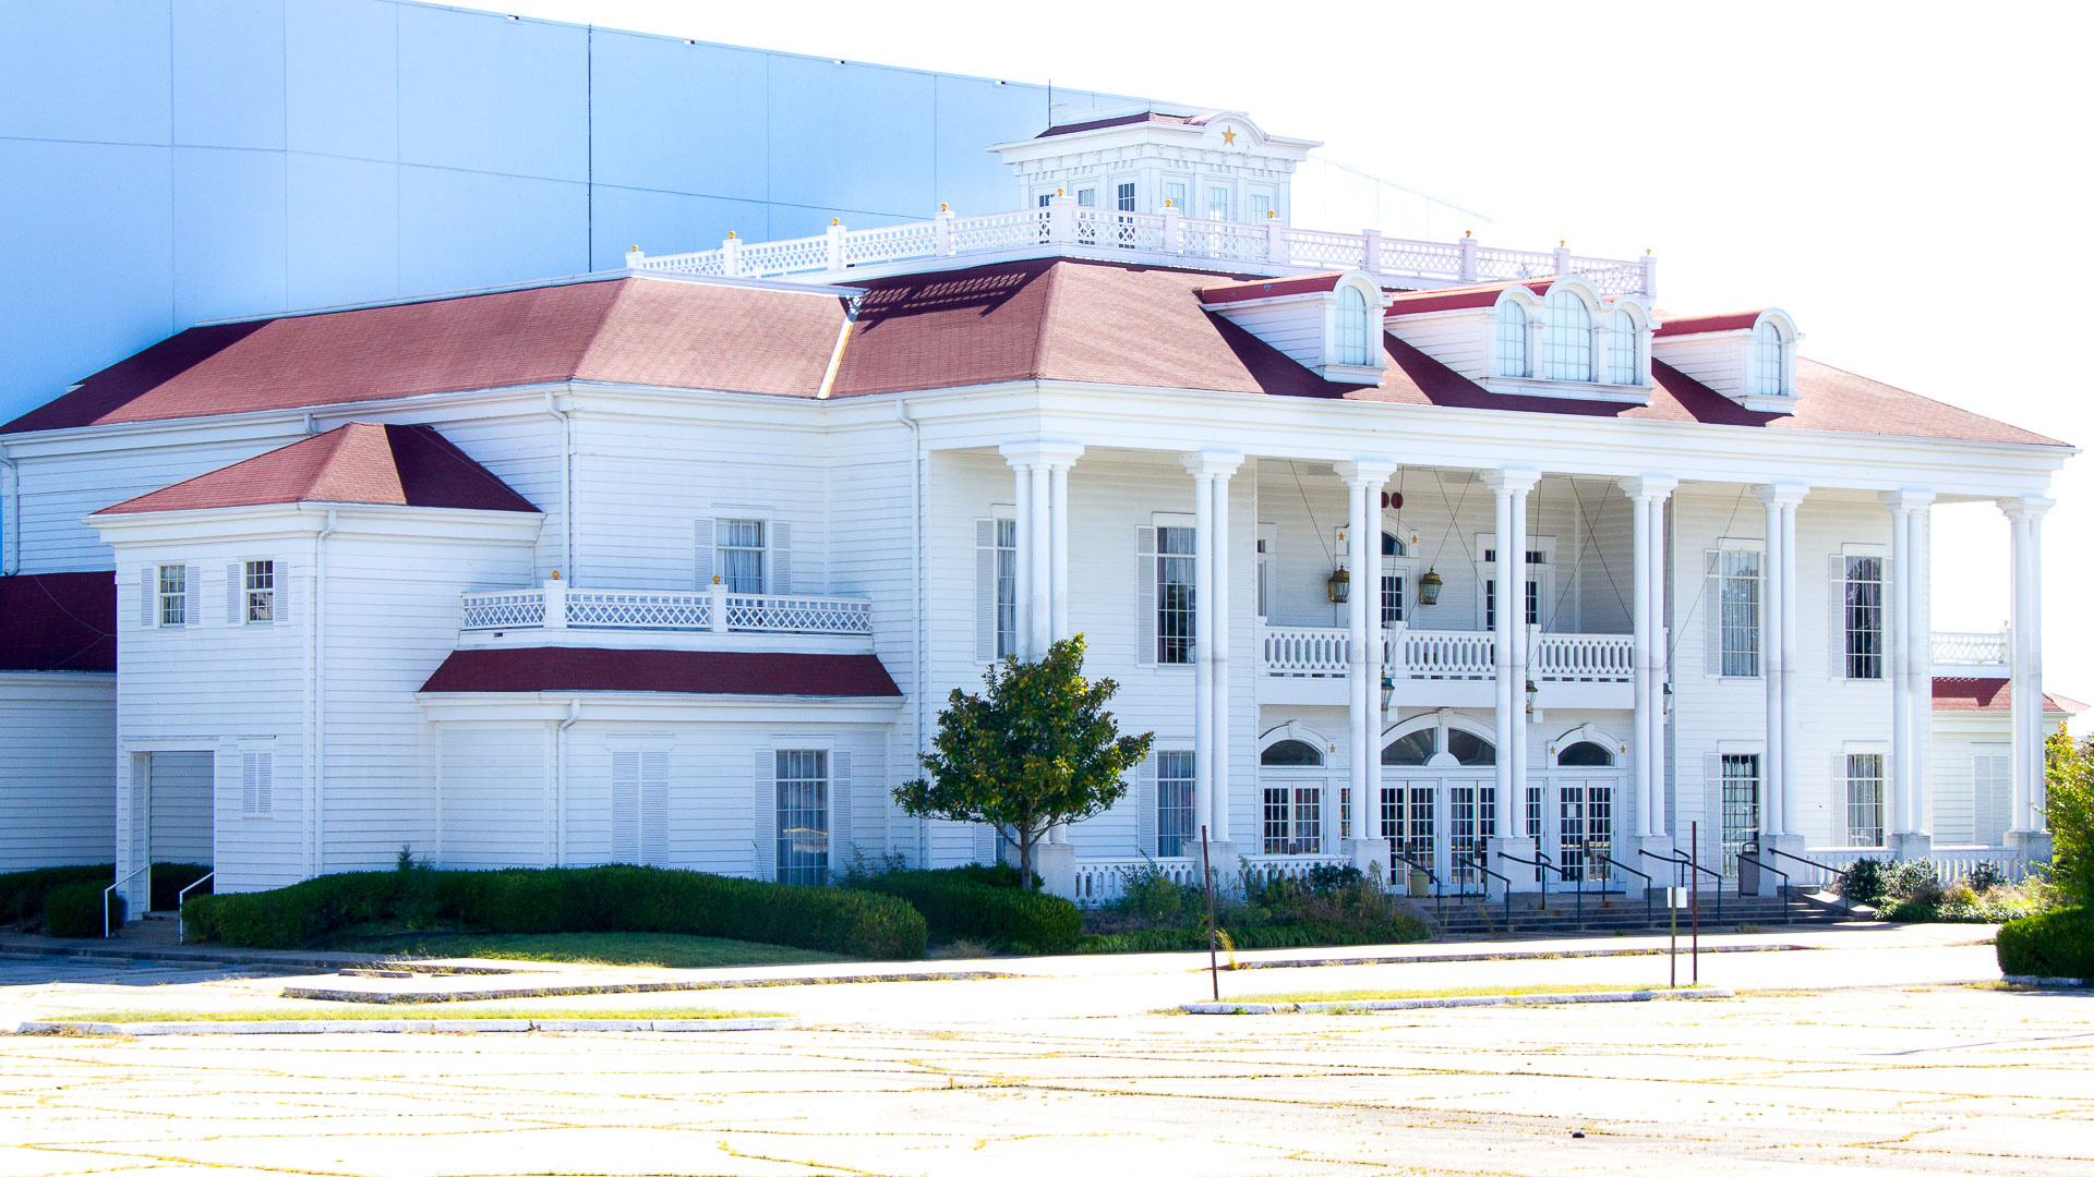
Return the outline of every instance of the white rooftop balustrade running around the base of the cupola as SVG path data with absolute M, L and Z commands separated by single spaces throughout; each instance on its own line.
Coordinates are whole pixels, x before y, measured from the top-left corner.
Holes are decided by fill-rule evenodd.
M 831 224 L 821 237 L 748 243 L 729 237 L 718 249 L 632 251 L 626 266 L 666 274 L 796 279 L 840 274 L 852 266 L 919 262 L 963 253 L 1068 245 L 1133 253 L 1202 258 L 1279 270 L 1351 270 L 1436 283 L 1491 283 L 1579 274 L 1602 293 L 1654 295 L 1656 266 L 1646 258 L 1581 258 L 1568 249 L 1487 249 L 1474 237 L 1413 241 L 1380 232 L 1328 232 L 1267 222 L 1200 220 L 1177 209 L 1160 214 L 1085 207 L 1055 197 L 1043 207 L 988 216 L 940 212 L 932 220 L 879 228 Z

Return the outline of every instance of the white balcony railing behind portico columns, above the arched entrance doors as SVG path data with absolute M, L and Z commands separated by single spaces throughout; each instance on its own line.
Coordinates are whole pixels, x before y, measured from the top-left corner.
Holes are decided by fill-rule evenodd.
M 1629 683 L 1635 679 L 1635 639 L 1625 632 L 1527 632 L 1527 664 L 1543 683 Z M 1265 674 L 1288 679 L 1344 679 L 1353 639 L 1332 626 L 1261 626 L 1258 660 Z M 1489 630 L 1420 630 L 1393 626 L 1382 637 L 1382 670 L 1390 679 L 1491 679 L 1497 674 L 1497 639 Z

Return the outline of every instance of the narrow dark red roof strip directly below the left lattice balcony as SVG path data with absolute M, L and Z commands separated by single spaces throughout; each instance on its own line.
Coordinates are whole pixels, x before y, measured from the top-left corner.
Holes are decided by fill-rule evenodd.
M 739 649 L 454 649 L 423 691 L 662 691 L 676 695 L 900 697 L 871 653 Z

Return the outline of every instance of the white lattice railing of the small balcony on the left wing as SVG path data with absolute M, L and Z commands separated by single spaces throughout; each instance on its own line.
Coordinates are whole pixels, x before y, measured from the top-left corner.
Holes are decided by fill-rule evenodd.
M 873 603 L 861 597 L 798 593 L 706 593 L 658 588 L 578 588 L 559 580 L 540 588 L 467 593 L 461 628 L 599 628 L 687 632 L 873 632 Z

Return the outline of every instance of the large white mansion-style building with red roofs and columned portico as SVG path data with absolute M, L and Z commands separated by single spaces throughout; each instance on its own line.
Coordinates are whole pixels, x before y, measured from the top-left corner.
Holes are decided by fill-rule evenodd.
M 205 846 L 220 890 L 402 846 L 953 865 L 993 836 L 892 785 L 953 687 L 1081 632 L 1158 733 L 1045 848 L 1087 901 L 1202 829 L 1223 867 L 1462 884 L 1476 852 L 1619 882 L 1602 854 L 1696 825 L 1725 867 L 2048 854 L 2067 444 L 1803 358 L 1778 308 L 1667 314 L 1650 258 L 1296 228 L 1309 147 L 1097 117 L 1003 147 L 1018 212 L 201 325 L 90 375 L 0 431 L 0 509 L 17 580 L 115 572 L 113 720 L 73 704 L 113 804 L 4 804 L 134 894 Z M 1929 511 L 1968 501 L 2014 536 L 1983 821 L 1929 756 Z

